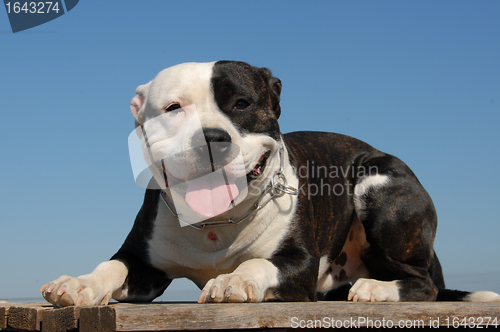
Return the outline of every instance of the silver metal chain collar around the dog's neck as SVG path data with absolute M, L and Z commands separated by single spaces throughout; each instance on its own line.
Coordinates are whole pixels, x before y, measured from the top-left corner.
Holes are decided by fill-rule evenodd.
M 241 217 L 238 220 L 233 220 L 233 218 L 230 218 L 228 220 L 202 221 L 196 224 L 191 224 L 181 220 L 177 212 L 175 212 L 170 207 L 170 205 L 168 204 L 167 200 L 164 197 L 164 195 L 166 195 L 164 190 L 161 190 L 160 197 L 162 198 L 163 202 L 165 203 L 169 211 L 172 213 L 172 215 L 176 217 L 179 220 L 179 222 L 191 226 L 192 228 L 195 228 L 197 230 L 202 230 L 205 227 L 210 227 L 210 226 L 237 225 L 241 223 L 243 220 L 255 214 L 257 211 L 264 208 L 264 206 L 266 206 L 275 197 L 281 197 L 284 196 L 285 194 L 298 195 L 299 193 L 298 189 L 288 185 L 288 181 L 285 177 L 285 174 L 283 173 L 285 167 L 285 156 L 284 156 L 283 146 L 281 146 L 279 154 L 280 154 L 280 168 L 279 170 L 274 172 L 273 177 L 271 178 L 271 183 L 267 186 L 267 188 L 263 191 L 263 193 L 260 195 L 257 201 L 253 204 L 253 208 L 250 209 L 250 211 L 248 211 L 243 217 Z M 267 194 L 269 194 L 269 197 L 267 197 L 264 200 L 264 196 L 266 196 Z M 234 201 L 231 202 L 231 204 L 233 205 L 233 210 L 234 210 L 235 207 Z

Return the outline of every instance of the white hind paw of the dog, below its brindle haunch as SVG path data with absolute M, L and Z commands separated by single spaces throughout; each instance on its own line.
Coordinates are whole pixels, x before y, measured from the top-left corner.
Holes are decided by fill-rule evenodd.
M 347 299 L 353 302 L 397 302 L 399 289 L 396 281 L 360 278 L 349 290 Z

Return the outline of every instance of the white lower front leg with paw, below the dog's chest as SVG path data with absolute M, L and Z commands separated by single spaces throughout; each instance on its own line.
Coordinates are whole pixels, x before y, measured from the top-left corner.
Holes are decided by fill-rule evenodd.
M 262 302 L 278 286 L 278 273 L 267 259 L 250 259 L 233 273 L 208 281 L 198 302 Z

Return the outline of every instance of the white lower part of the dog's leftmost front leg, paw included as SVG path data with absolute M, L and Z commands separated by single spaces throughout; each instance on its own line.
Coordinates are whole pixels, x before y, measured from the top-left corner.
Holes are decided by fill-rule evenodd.
M 128 275 L 127 266 L 119 260 L 99 264 L 95 270 L 80 277 L 61 276 L 42 287 L 43 297 L 59 307 L 108 304 L 113 297 L 126 296 L 122 289 Z

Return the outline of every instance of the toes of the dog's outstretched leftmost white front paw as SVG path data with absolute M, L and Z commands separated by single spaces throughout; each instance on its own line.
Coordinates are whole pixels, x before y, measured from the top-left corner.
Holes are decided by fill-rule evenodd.
M 108 304 L 111 292 L 106 292 L 98 283 L 85 278 L 61 276 L 40 287 L 43 297 L 59 307 L 72 305 Z

